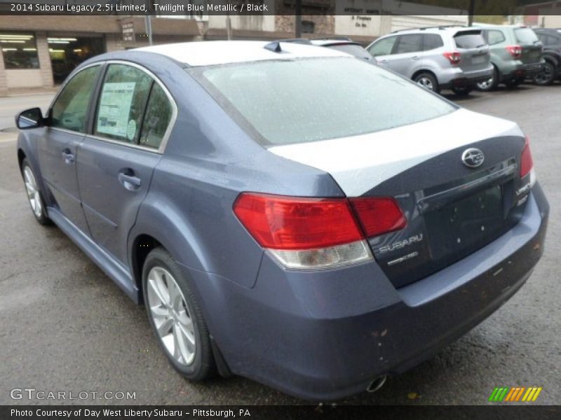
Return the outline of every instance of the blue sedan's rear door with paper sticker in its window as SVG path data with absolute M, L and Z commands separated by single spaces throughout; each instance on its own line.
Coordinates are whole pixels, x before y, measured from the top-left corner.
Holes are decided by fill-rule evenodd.
M 161 158 L 175 103 L 140 66 L 109 63 L 92 135 L 78 153 L 78 181 L 93 239 L 127 263 L 127 237 Z

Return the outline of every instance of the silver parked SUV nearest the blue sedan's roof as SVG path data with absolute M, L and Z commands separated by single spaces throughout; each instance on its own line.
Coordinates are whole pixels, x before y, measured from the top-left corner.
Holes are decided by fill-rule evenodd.
M 366 50 L 379 65 L 437 93 L 451 89 L 456 94 L 468 94 L 493 71 L 480 29 L 407 29 L 378 38 Z

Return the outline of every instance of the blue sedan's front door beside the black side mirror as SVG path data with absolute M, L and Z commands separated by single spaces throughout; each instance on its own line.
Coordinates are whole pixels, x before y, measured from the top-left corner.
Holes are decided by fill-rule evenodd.
M 92 92 L 100 65 L 76 73 L 62 88 L 49 111 L 50 123 L 39 139 L 39 165 L 55 205 L 88 234 L 76 178 L 76 154 L 84 139 Z

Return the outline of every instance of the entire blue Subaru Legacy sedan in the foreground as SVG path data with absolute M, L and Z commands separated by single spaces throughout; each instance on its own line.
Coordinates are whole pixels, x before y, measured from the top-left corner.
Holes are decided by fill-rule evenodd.
M 37 221 L 144 302 L 192 380 L 376 387 L 489 316 L 543 252 L 515 123 L 336 50 L 112 52 L 18 125 Z

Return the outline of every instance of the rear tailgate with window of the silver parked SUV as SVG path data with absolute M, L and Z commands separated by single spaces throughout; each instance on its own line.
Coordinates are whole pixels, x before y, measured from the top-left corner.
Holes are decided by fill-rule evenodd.
M 469 74 L 489 67 L 489 45 L 481 35 L 480 29 L 458 31 L 453 38 L 461 54 L 458 66 L 464 73 Z

